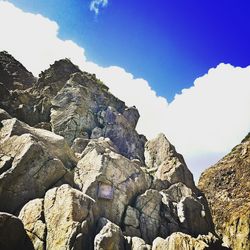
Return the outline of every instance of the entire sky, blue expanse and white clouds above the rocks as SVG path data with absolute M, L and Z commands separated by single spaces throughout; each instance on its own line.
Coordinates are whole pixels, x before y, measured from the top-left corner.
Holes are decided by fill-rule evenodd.
M 249 132 L 247 2 L 0 0 L 0 50 L 35 75 L 64 57 L 96 73 L 197 180 Z

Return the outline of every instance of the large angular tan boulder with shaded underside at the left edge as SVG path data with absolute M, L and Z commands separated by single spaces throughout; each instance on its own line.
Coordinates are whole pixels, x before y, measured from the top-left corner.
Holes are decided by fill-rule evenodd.
M 3 120 L 2 124 L 0 210 L 16 212 L 63 179 L 74 159 L 64 139 L 52 132 L 16 119 Z

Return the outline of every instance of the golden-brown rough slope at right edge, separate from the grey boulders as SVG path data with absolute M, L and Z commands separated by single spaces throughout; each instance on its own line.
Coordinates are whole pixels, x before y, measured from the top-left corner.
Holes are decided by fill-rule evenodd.
M 250 134 L 200 177 L 217 233 L 233 249 L 250 248 Z

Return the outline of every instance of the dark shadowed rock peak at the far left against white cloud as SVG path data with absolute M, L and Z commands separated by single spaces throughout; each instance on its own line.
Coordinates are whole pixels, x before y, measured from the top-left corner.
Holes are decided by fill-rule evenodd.
M 20 62 L 6 51 L 0 52 L 0 82 L 8 89 L 31 87 L 36 79 Z

